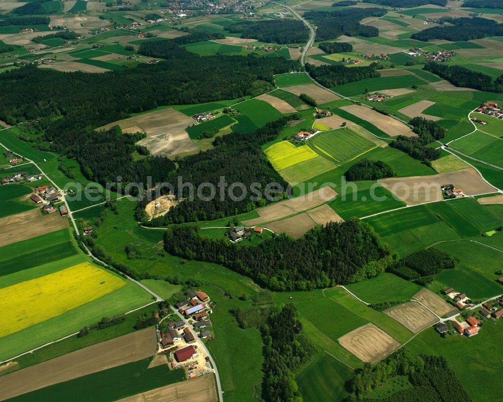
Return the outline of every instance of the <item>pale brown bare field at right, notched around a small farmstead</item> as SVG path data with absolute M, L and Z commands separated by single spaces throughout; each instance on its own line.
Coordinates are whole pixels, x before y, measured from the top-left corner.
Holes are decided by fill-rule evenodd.
M 453 184 L 465 195 L 485 194 L 495 189 L 484 182 L 473 168 L 432 176 L 412 176 L 378 180 L 386 189 L 407 205 L 417 205 L 443 199 L 440 186 Z

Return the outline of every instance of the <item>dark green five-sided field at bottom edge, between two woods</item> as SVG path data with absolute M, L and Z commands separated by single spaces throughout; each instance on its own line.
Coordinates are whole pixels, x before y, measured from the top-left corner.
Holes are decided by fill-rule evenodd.
M 321 353 L 297 374 L 297 384 L 304 400 L 340 402 L 347 394 L 344 385 L 353 370 L 327 353 Z

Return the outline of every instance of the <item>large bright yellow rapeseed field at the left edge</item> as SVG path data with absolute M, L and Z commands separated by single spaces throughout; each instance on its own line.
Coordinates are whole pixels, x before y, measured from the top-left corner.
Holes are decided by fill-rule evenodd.
M 96 300 L 126 282 L 82 263 L 0 289 L 0 338 Z

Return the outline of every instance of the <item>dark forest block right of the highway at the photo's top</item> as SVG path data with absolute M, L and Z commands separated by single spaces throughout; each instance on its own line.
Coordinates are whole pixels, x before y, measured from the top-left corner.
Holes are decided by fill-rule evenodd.
M 359 21 L 366 17 L 382 17 L 388 11 L 381 8 L 347 8 L 333 11 L 311 10 L 304 13 L 304 18 L 312 20 L 316 25 L 316 41 L 336 39 L 347 36 L 378 36 L 379 30 L 370 25 L 362 25 Z

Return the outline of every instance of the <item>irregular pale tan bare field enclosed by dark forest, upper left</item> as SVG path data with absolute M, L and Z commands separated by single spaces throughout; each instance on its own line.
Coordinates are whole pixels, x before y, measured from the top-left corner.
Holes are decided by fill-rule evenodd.
M 135 132 L 140 128 L 147 137 L 138 144 L 145 145 L 153 155 L 172 156 L 199 149 L 185 131 L 194 123 L 190 117 L 170 108 L 119 120 L 101 128 L 117 124 L 126 132 Z

